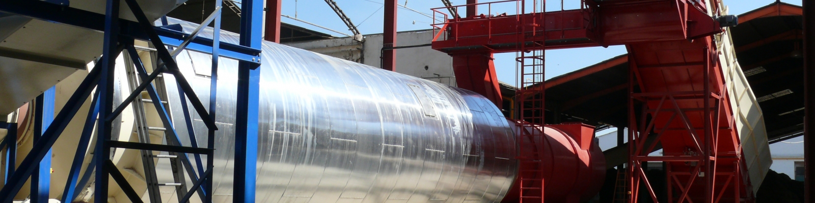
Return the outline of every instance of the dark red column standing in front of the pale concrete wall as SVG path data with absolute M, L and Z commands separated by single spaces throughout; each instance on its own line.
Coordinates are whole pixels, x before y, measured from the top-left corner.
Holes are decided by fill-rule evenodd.
M 396 0 L 385 0 L 385 30 L 382 32 L 382 47 L 396 46 Z M 382 54 L 382 69 L 396 70 L 396 50 L 385 50 Z

